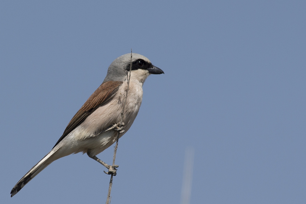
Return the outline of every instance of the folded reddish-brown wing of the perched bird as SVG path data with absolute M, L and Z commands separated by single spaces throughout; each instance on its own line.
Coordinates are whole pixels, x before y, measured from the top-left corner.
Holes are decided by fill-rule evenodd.
M 84 120 L 97 108 L 102 106 L 105 102 L 111 99 L 114 94 L 118 91 L 122 81 L 107 81 L 102 83 L 101 86 L 95 90 L 95 92 L 87 99 L 80 110 L 73 116 L 69 124 L 67 125 L 62 137 L 54 145 L 58 145 L 59 142 L 64 139 L 71 131 L 79 126 Z M 54 148 L 53 147 L 53 148 Z

